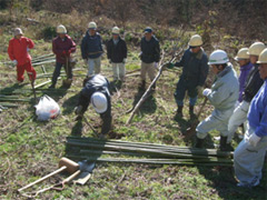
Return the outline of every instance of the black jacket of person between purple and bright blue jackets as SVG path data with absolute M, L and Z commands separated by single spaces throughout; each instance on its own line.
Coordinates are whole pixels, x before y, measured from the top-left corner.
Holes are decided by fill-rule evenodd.
M 258 64 L 255 64 L 248 74 L 246 81 L 246 88 L 243 93 L 243 100 L 250 102 L 258 92 L 259 88 L 263 86 L 264 80 L 260 79 Z

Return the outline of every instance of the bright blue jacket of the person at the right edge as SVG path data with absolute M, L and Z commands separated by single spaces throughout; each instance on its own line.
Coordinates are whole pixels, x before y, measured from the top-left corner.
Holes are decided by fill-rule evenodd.
M 251 101 L 248 122 L 258 137 L 267 136 L 267 79 Z

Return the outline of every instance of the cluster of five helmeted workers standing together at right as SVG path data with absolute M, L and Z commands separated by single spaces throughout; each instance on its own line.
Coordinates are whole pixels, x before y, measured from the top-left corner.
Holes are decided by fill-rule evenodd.
M 192 41 L 198 42 L 192 44 Z M 215 109 L 197 126 L 195 147 L 204 148 L 208 132 L 216 129 L 220 132 L 220 150 L 234 150 L 233 136 L 244 123 L 245 137 L 234 152 L 237 186 L 256 187 L 263 177 L 267 150 L 267 48 L 263 42 L 255 42 L 238 51 L 235 58 L 240 66 L 238 79 L 224 50 L 215 50 L 207 61 L 201 44 L 199 36 L 191 37 L 181 60 L 167 64 L 168 68 L 184 67 L 175 92 L 177 114 L 182 114 L 185 91 L 188 91 L 189 112 L 192 112 L 207 77 L 207 64 L 210 66 L 216 79 L 211 88 L 202 90 L 202 96 Z

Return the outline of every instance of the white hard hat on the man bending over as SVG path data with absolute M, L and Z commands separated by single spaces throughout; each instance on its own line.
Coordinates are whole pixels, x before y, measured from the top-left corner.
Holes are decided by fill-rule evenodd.
M 95 110 L 98 112 L 98 113 L 103 113 L 106 112 L 107 108 L 108 108 L 108 101 L 107 101 L 107 98 L 103 93 L 101 92 L 95 92 L 92 96 L 91 96 L 91 103 L 92 103 L 92 107 L 95 108 Z

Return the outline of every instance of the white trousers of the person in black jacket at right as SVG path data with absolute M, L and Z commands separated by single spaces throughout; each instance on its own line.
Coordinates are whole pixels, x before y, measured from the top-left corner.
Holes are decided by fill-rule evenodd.
M 244 123 L 245 131 L 247 131 L 247 113 L 249 109 L 249 102 L 243 101 L 239 106 L 235 109 L 233 116 L 229 119 L 228 123 L 228 138 L 227 143 L 230 143 L 237 128 Z

